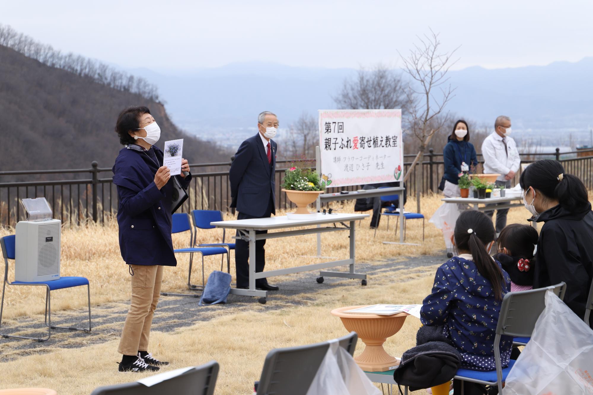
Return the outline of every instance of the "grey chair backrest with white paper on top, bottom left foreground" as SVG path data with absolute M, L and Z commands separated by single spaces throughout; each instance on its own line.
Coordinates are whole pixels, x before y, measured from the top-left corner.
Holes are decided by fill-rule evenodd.
M 216 377 L 218 377 L 218 369 L 218 362 L 210 361 L 208 364 L 193 367 L 151 387 L 137 382 L 116 384 L 115 386 L 96 388 L 91 395 L 212 395 Z

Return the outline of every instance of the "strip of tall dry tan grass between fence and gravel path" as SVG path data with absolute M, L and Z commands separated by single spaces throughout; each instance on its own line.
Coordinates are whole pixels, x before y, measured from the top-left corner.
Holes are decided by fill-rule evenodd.
M 426 239 L 422 243 L 422 221 L 410 220 L 407 226 L 407 242 L 421 246 L 401 246 L 382 244 L 382 241 L 398 241 L 394 235 L 395 221 L 391 219 L 387 231 L 387 218 L 381 219 L 377 237 L 369 229 L 370 217 L 356 227 L 356 260 L 374 262 L 394 257 L 410 257 L 427 254 L 440 254 L 445 250 L 441 231 L 428 223 L 428 219 L 441 205 L 441 196 L 431 195 L 422 198 L 422 212 L 426 216 Z M 341 208 L 339 203 L 333 206 L 339 212 L 353 212 L 350 201 Z M 406 209 L 416 211 L 416 201 L 409 199 Z M 370 212 L 369 212 L 370 213 Z M 527 211 L 522 208 L 509 212 L 509 223 L 525 221 Z M 282 215 L 282 212 L 278 212 Z M 234 219 L 230 214 L 225 219 Z M 14 232 L 0 228 L 0 237 Z M 227 234 L 227 241 L 231 241 Z M 197 240 L 200 243 L 217 243 L 222 238 L 221 230 L 199 230 Z M 322 255 L 337 258 L 348 256 L 348 238 L 346 232 L 331 232 L 321 235 Z M 173 235 L 176 248 L 187 247 L 189 232 Z M 317 259 L 316 236 L 304 235 L 293 238 L 273 238 L 266 242 L 266 269 L 281 269 L 307 263 L 324 262 Z M 199 261 L 199 258 L 197 259 Z M 163 279 L 163 291 L 183 291 L 187 289 L 188 254 L 177 254 L 177 267 L 166 267 Z M 205 257 L 206 277 L 212 270 L 220 269 L 219 256 Z M 226 266 L 226 263 L 225 263 Z M 11 261 L 9 278 L 14 278 L 14 265 Z M 199 283 L 200 265 L 193 266 L 192 279 Z M 234 253 L 231 253 L 231 273 L 234 273 Z M 129 273 L 119 251 L 117 222 L 114 219 L 106 225 L 88 222 L 84 226 L 63 227 L 62 230 L 62 270 L 63 276 L 84 276 L 91 284 L 91 304 L 104 304 L 129 298 Z M 44 290 L 41 287 L 9 286 L 5 298 L 5 317 L 15 318 L 23 315 L 43 313 Z M 64 289 L 52 292 L 52 311 L 68 308 L 82 308 L 86 304 L 85 291 L 82 288 Z

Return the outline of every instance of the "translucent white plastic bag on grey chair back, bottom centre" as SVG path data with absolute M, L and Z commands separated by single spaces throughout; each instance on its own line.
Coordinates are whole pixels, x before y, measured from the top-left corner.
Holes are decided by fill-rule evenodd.
M 307 395 L 381 395 L 381 391 L 356 365 L 352 355 L 332 340 Z

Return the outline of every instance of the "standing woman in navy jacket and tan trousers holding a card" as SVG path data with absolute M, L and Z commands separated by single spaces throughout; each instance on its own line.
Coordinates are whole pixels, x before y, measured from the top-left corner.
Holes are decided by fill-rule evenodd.
M 157 371 L 168 362 L 148 352 L 148 338 L 161 294 L 162 267 L 177 266 L 171 241 L 173 180 L 162 165 L 162 151 L 154 146 L 161 129 L 147 107 L 123 110 L 115 131 L 125 146 L 113 166 L 119 246 L 132 282 L 132 301 L 117 349 L 123 355 L 119 371 Z M 181 161 L 181 174 L 174 177 L 181 186 L 189 186 L 187 160 Z

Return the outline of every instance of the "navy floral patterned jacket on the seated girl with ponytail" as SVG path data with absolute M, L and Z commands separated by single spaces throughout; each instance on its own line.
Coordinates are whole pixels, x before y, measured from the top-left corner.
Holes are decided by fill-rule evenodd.
M 490 371 L 495 369 L 494 337 L 500 314 L 492 285 L 477 270 L 473 257 L 461 254 L 436 270 L 432 293 L 423 301 L 420 321 L 442 325 L 463 360 L 461 367 Z M 493 261 L 500 267 L 500 263 Z M 502 270 L 502 267 L 501 267 Z M 503 270 L 503 296 L 511 289 L 511 279 Z M 506 367 L 511 356 L 512 337 L 500 339 L 500 358 Z

